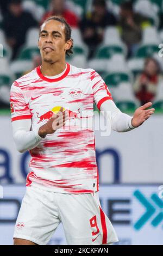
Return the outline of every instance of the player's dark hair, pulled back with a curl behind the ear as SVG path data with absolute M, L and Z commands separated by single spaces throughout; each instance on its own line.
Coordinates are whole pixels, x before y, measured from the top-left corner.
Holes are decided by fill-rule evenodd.
M 58 17 L 58 16 L 52 16 L 52 17 L 49 17 L 47 18 L 43 23 L 45 22 L 48 22 L 48 21 L 59 21 L 61 22 L 62 24 L 65 25 L 65 40 L 72 40 L 72 46 L 70 47 L 69 50 L 66 50 L 66 55 L 67 56 L 70 56 L 70 54 L 73 54 L 73 51 L 72 51 L 72 48 L 73 48 L 73 39 L 71 38 L 71 27 L 70 25 L 66 22 L 66 20 L 62 17 Z M 40 27 L 40 31 L 41 31 L 41 27 Z

